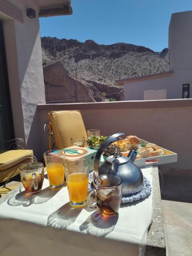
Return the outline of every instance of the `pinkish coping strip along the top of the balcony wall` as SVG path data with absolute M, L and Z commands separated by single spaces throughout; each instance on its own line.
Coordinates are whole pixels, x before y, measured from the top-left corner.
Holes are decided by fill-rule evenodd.
M 38 104 L 37 110 L 159 109 L 192 106 L 192 99 L 140 100 L 66 104 Z

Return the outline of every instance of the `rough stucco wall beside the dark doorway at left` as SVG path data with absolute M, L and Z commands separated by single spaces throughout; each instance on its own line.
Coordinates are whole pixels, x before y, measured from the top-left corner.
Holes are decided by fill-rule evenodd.
M 22 10 L 24 17 L 24 23 L 4 17 L 14 130 L 15 136 L 24 138 L 30 148 L 36 133 L 36 105 L 45 103 L 38 8 L 30 0 L 9 2 Z M 27 8 L 36 10 L 36 18 L 27 17 Z

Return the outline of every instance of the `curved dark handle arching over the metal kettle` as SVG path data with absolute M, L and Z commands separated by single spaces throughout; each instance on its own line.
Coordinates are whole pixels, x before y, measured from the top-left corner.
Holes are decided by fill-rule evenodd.
M 112 142 L 115 142 L 117 140 L 120 140 L 121 138 L 119 138 L 120 136 L 123 136 L 124 133 L 116 133 L 113 134 L 112 136 L 110 136 L 109 138 L 107 138 L 103 144 L 100 146 L 99 150 L 97 151 L 97 154 L 95 156 L 95 162 L 94 162 L 94 171 L 96 173 L 99 172 L 99 159 L 101 154 L 103 153 L 103 151 L 105 150 L 106 147 L 108 147 Z

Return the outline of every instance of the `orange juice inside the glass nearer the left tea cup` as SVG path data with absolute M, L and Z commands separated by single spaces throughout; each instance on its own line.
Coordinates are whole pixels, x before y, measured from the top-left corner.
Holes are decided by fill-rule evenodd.
M 59 186 L 63 184 L 65 173 L 62 163 L 49 163 L 46 168 L 51 186 Z

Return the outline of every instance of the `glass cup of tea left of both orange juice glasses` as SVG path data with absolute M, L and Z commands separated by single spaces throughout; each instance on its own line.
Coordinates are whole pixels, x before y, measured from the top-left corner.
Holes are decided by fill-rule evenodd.
M 44 164 L 40 162 L 26 163 L 20 166 L 20 178 L 26 192 L 37 193 L 44 182 Z

